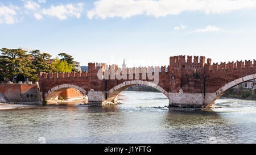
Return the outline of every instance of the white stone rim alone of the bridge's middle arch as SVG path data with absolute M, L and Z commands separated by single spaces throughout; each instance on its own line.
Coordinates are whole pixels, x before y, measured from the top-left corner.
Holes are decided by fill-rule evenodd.
M 151 86 L 154 87 L 155 89 L 159 90 L 162 92 L 164 95 L 166 95 L 167 98 L 169 98 L 169 93 L 164 90 L 162 87 L 156 85 L 153 82 L 148 82 L 148 81 L 142 81 L 142 80 L 133 80 L 133 81 L 125 81 L 123 83 L 120 83 L 117 86 L 114 86 L 112 89 L 108 91 L 109 95 L 112 94 L 115 90 L 118 90 L 124 86 L 131 86 L 131 85 L 145 85 L 145 86 Z

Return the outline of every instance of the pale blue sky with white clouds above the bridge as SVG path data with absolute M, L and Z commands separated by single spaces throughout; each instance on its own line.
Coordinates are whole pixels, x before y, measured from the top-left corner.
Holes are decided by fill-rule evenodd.
M 65 52 L 81 65 L 256 59 L 254 0 L 0 0 L 0 48 Z

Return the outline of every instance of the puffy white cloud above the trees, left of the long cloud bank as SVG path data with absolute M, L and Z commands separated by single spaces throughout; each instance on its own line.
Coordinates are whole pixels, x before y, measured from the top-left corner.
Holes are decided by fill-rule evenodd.
M 83 9 L 83 3 L 77 3 L 76 5 L 59 5 L 51 6 L 49 9 L 43 9 L 42 14 L 48 16 L 56 16 L 60 20 L 67 19 L 68 17 L 75 16 L 80 18 Z

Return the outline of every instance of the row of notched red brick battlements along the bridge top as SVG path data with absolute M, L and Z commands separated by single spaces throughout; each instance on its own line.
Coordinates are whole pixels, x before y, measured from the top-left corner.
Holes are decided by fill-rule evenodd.
M 177 67 L 192 67 L 192 71 L 193 68 L 198 68 L 200 66 L 202 66 L 205 70 L 211 70 L 212 72 L 224 72 L 225 70 L 230 70 L 230 72 L 233 72 L 233 70 L 251 70 L 251 69 L 255 69 L 256 68 L 256 60 L 245 60 L 245 61 L 232 61 L 232 62 L 221 62 L 220 64 L 218 63 L 213 63 L 212 64 L 212 60 L 210 58 L 207 59 L 207 63 L 205 64 L 205 57 L 200 56 L 200 61 L 199 60 L 199 56 L 193 56 L 193 62 L 192 62 L 192 56 L 187 56 L 187 60 L 185 60 L 185 56 L 173 56 L 170 57 L 170 66 L 161 66 L 159 68 L 159 72 L 160 73 L 173 73 L 174 72 L 174 68 Z M 118 65 L 107 65 L 104 63 L 88 63 L 88 72 L 67 72 L 67 73 L 45 73 L 45 72 L 40 72 L 38 74 L 40 79 L 56 79 L 56 78 L 78 78 L 78 77 L 90 77 L 93 73 L 97 73 L 99 69 L 104 68 L 104 70 L 102 70 L 102 73 L 104 73 L 105 70 L 110 70 L 110 68 L 114 68 L 115 72 L 117 72 L 118 70 Z M 151 73 L 154 73 L 154 69 L 153 66 L 148 66 L 144 67 L 146 68 L 146 73 L 148 73 L 149 71 L 151 71 Z M 138 69 L 139 73 L 142 73 L 142 68 L 131 68 L 127 70 L 127 74 L 132 73 L 135 74 L 135 70 Z M 171 71 L 170 71 L 171 70 Z M 110 71 L 108 72 L 110 75 Z M 125 72 L 122 71 L 121 74 L 123 74 Z

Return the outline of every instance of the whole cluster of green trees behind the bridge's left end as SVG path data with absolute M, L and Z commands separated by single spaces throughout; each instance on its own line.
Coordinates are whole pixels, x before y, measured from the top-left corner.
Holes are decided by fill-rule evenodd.
M 0 49 L 0 82 L 38 81 L 39 72 L 75 72 L 73 57 L 60 53 L 51 59 L 51 55 L 39 50 L 24 51 L 23 49 Z

